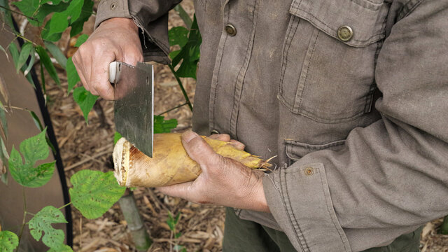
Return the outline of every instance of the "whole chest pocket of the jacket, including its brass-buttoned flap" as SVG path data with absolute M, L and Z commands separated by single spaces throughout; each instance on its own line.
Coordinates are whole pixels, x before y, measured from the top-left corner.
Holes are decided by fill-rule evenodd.
M 292 113 L 342 123 L 370 112 L 383 0 L 294 0 L 278 98 Z

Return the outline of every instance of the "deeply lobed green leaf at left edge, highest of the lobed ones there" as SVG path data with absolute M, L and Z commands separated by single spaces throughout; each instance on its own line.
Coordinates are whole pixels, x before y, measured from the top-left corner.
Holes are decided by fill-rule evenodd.
M 49 151 L 45 141 L 45 132 L 46 129 L 20 143 L 20 153 L 22 153 L 25 162 L 22 160 L 22 155 L 13 146 L 8 160 L 9 170 L 13 179 L 22 186 L 30 188 L 43 186 L 51 179 L 55 170 L 55 162 L 34 167 L 38 160 L 48 158 Z

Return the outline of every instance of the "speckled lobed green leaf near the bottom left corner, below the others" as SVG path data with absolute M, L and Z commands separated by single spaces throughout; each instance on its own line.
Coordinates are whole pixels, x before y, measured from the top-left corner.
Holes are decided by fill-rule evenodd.
M 29 221 L 29 232 L 36 241 L 41 239 L 43 232 L 43 244 L 50 248 L 60 248 L 64 245 L 64 231 L 53 228 L 53 223 L 67 223 L 67 221 L 59 209 L 52 206 L 44 207 Z

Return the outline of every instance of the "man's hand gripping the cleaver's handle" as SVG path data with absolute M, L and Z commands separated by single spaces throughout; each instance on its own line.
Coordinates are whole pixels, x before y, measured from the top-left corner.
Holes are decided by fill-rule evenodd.
M 138 32 L 130 18 L 111 18 L 95 29 L 72 58 L 86 90 L 113 100 L 109 63 L 118 60 L 135 66 L 143 61 Z

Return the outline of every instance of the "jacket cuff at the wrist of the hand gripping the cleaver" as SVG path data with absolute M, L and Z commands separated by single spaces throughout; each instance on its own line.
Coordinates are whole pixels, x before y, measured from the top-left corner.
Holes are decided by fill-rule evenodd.
M 132 18 L 127 0 L 102 0 L 99 2 L 94 29 L 109 18 Z

